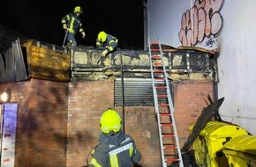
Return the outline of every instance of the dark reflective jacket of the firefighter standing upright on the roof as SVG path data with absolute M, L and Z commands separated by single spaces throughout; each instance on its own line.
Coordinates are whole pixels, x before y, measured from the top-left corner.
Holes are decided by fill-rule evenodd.
M 69 13 L 61 19 L 62 24 L 66 24 L 70 33 L 74 35 L 79 31 L 83 33 L 81 19 L 75 13 Z

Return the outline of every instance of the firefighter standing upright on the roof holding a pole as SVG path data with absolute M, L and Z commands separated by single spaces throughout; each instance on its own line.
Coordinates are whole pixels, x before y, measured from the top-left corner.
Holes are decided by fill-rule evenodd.
M 77 40 L 75 39 L 76 33 L 79 31 L 79 33 L 82 34 L 83 39 L 86 37 L 86 33 L 84 32 L 82 28 L 82 21 L 79 18 L 79 16 L 83 13 L 83 10 L 80 6 L 77 6 L 74 8 L 73 13 L 69 13 L 65 15 L 62 19 L 61 22 L 63 24 L 63 28 L 68 31 L 66 32 L 66 38 L 64 40 L 67 40 L 68 44 L 67 46 L 71 47 L 77 47 L 78 43 Z

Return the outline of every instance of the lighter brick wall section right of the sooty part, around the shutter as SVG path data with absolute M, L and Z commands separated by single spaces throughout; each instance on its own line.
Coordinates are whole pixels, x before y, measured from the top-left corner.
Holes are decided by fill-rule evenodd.
M 175 81 L 175 115 L 180 145 L 183 146 L 203 107 L 211 81 Z M 91 81 L 70 84 L 67 166 L 82 166 L 100 135 L 102 112 L 114 108 L 114 81 Z M 122 116 L 122 108 L 115 108 Z M 123 118 L 123 116 L 122 116 Z M 142 153 L 143 167 L 161 166 L 158 127 L 154 107 L 124 107 L 124 132 L 131 134 Z M 89 156 L 90 157 L 90 156 Z M 90 159 L 90 158 L 89 158 Z

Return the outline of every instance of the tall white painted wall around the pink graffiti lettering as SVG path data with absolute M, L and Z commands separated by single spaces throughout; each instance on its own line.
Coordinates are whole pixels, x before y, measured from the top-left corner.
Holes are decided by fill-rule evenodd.
M 218 97 L 225 98 L 220 108 L 222 119 L 256 134 L 256 1 L 220 1 L 222 8 L 218 12 L 222 17 L 221 31 L 194 46 L 217 48 L 220 51 Z M 195 0 L 148 0 L 145 40 L 147 37 L 151 41 L 160 38 L 162 44 L 181 46 L 178 33 L 182 15 L 192 9 L 194 2 Z M 213 4 L 214 0 L 207 2 Z M 208 46 L 206 44 L 209 39 L 215 42 Z

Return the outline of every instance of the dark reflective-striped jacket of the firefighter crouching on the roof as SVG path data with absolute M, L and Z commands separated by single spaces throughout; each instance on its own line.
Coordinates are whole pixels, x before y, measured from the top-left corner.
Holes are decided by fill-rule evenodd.
M 118 46 L 118 40 L 116 37 L 107 34 L 107 40 L 104 43 L 101 43 L 100 40 L 96 39 L 96 47 L 106 47 L 106 50 L 109 52 L 116 49 Z

